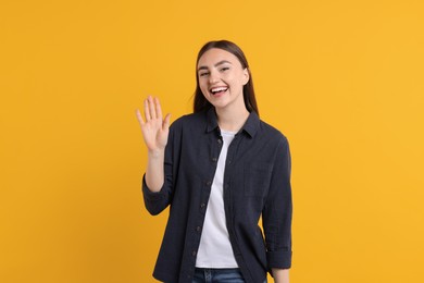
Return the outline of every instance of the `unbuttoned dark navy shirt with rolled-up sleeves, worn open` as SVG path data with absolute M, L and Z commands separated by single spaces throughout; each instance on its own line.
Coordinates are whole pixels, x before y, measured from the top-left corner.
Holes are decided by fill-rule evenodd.
M 191 283 L 222 143 L 213 108 L 182 116 L 170 128 L 163 187 L 153 193 L 142 182 L 145 205 L 151 214 L 171 206 L 153 272 L 160 281 Z M 288 142 L 254 112 L 228 148 L 224 209 L 234 256 L 246 282 L 263 282 L 272 268 L 290 268 Z

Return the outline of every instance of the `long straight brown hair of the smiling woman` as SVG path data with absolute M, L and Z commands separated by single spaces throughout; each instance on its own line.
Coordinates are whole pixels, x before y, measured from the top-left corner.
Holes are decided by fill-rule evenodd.
M 245 53 L 236 44 L 228 41 L 228 40 L 217 40 L 217 41 L 207 42 L 200 49 L 200 51 L 197 56 L 196 66 L 199 63 L 199 59 L 203 56 L 203 53 L 212 48 L 223 49 L 223 50 L 234 54 L 240 61 L 241 66 L 244 69 L 248 70 L 249 82 L 246 85 L 244 85 L 244 87 L 242 87 L 242 96 L 245 99 L 246 109 L 249 112 L 254 111 L 259 115 L 257 99 L 254 97 L 252 74 L 250 73 L 249 64 L 247 62 Z M 194 112 L 195 113 L 200 112 L 200 111 L 210 109 L 211 107 L 212 107 L 212 104 L 204 98 L 202 91 L 200 90 L 199 76 L 198 76 L 198 72 L 196 70 L 196 91 L 195 91 L 195 99 L 194 99 Z

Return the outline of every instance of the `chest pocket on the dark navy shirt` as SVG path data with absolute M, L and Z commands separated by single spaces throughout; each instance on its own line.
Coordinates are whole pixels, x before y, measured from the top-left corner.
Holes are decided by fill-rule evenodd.
M 264 197 L 271 184 L 271 163 L 250 163 L 245 167 L 245 196 Z

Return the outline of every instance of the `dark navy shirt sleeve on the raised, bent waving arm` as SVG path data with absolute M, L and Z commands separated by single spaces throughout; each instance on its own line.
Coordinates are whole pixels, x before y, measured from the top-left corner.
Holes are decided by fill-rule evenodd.
M 146 184 L 146 174 L 142 176 L 142 196 L 146 209 L 152 216 L 162 212 L 172 201 L 173 196 L 173 168 L 174 168 L 174 128 L 170 128 L 169 140 L 165 148 L 164 183 L 159 192 L 151 192 Z

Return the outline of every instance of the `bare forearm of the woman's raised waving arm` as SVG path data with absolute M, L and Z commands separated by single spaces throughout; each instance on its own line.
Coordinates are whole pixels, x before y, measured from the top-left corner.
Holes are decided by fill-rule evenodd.
M 146 184 L 151 192 L 161 190 L 164 183 L 164 150 L 149 151 L 146 169 Z

